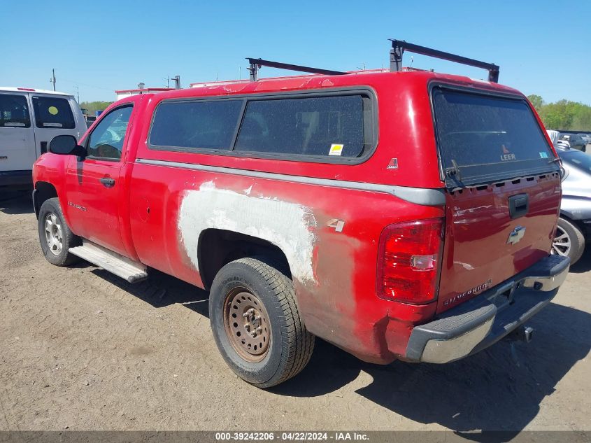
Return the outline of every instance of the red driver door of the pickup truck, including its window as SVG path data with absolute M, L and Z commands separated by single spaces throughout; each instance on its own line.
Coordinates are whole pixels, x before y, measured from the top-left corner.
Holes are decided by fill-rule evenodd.
M 71 156 L 66 171 L 68 207 L 64 210 L 72 231 L 122 255 L 127 252 L 119 211 L 126 190 L 120 170 L 132 111 L 132 104 L 125 104 L 101 118 L 83 142 L 87 157 Z

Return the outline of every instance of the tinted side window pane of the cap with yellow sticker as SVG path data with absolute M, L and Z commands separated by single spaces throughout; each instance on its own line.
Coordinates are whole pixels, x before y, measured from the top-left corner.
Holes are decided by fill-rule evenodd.
M 252 100 L 234 149 L 359 157 L 373 139 L 369 106 L 362 95 Z

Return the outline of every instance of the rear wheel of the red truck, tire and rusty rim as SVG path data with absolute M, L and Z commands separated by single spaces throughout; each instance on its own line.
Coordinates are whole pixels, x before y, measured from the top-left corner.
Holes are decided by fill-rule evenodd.
M 264 258 L 241 258 L 220 269 L 209 318 L 226 363 L 259 388 L 294 377 L 312 356 L 314 336 L 299 316 L 292 280 Z

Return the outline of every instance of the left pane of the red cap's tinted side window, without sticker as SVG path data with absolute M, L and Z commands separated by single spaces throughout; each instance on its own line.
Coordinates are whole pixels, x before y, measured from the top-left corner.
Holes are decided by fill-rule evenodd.
M 244 101 L 165 101 L 156 109 L 150 145 L 229 149 Z

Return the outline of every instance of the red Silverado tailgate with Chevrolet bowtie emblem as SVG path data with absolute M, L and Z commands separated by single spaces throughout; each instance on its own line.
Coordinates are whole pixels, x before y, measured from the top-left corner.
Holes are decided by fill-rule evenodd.
M 527 196 L 529 209 L 512 219 L 513 196 Z M 560 197 L 556 172 L 448 192 L 437 310 L 469 300 L 546 257 Z

